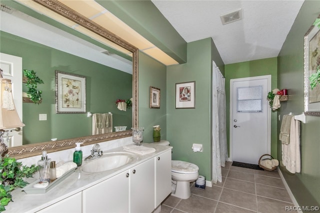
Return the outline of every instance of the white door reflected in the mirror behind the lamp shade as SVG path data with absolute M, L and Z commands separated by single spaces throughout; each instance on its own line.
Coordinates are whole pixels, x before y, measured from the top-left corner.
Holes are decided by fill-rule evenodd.
M 15 109 L 22 121 L 22 57 L 0 53 L 0 68 L 3 78 L 11 80 Z M 8 147 L 22 145 L 22 128 L 3 134 L 3 141 Z

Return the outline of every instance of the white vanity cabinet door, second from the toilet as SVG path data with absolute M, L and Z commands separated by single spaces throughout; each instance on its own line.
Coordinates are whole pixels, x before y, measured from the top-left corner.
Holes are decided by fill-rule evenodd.
M 132 213 L 150 213 L 154 209 L 154 160 L 142 162 L 130 171 L 129 194 Z

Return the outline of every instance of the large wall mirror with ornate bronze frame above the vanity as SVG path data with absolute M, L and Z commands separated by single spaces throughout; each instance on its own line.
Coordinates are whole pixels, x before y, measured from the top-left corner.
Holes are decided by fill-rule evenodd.
M 4 53 L 17 56 L 20 54 L 23 60 L 22 68 L 34 69 L 44 81 L 43 86 L 39 85 L 43 91 L 42 102 L 39 104 L 23 103 L 22 106 L 22 121 L 25 123 L 22 131 L 23 145 L 9 147 L 8 154 L 19 159 L 38 155 L 42 150 L 52 152 L 72 148 L 74 143 L 79 141 L 87 145 L 131 136 L 130 127 L 136 127 L 138 123 L 138 49 L 60 1 L 29 1 L 31 4 L 36 5 L 39 11 L 49 10 L 54 15 L 60 15 L 61 18 L 55 16 L 58 17 L 55 19 L 36 12 L 36 9 L 24 4 L 26 1 L 21 2 L 15 0 L 3 2 L 14 11 L 1 11 L 1 25 L 2 21 L 4 21 L 4 16 L 9 17 L 9 24 L 12 24 L 13 16 L 21 16 L 21 14 L 22 16 L 25 15 L 25 20 L 36 19 L 39 22 L 45 22 L 50 25 L 39 26 L 37 24 L 37 29 L 12 25 L 11 27 L 14 30 L 10 32 L 2 30 L 3 27 L 1 26 L 1 52 L 3 50 Z M 1 2 L 1 8 L 3 3 Z M 60 20 L 65 18 L 73 22 L 71 25 L 81 27 L 81 32 L 66 26 L 65 23 L 61 23 Z M 61 33 L 52 33 L 51 36 L 46 36 L 44 31 L 50 30 L 50 27 L 57 27 L 57 30 L 60 30 Z M 44 31 L 41 32 L 39 28 Z M 29 40 L 14 33 L 14 31 L 21 30 L 28 30 L 28 33 L 31 34 L 37 33 L 42 39 L 44 38 L 44 40 L 49 40 L 49 42 L 55 44 L 59 43 L 62 47 L 50 47 L 41 41 Z M 88 34 L 83 32 L 88 32 Z M 92 32 L 94 34 L 90 35 Z M 64 38 L 62 39 L 60 36 L 67 37 L 69 41 L 63 41 L 66 42 L 63 43 L 62 40 Z M 107 42 L 111 41 L 111 44 L 107 42 L 101 43 L 97 41 L 97 37 Z M 88 54 L 88 57 L 70 53 L 71 50 L 69 51 L 67 48 L 71 48 L 71 42 L 78 43 L 75 46 L 75 51 L 81 52 L 81 48 L 84 48 L 84 52 Z M 96 52 L 101 55 L 103 53 L 107 54 L 94 56 L 95 53 L 91 49 L 96 49 Z M 101 49 L 105 51 L 101 51 Z M 123 53 L 121 49 L 127 50 L 129 54 Z M 90 59 L 90 57 L 94 59 Z M 101 59 L 97 59 L 100 57 Z M 104 57 L 105 59 L 103 59 Z M 94 60 L 100 60 L 101 62 Z M 130 70 L 127 71 L 128 69 Z M 55 113 L 55 70 L 84 76 L 86 79 L 86 112 L 111 112 L 113 117 L 112 126 L 126 125 L 127 130 L 115 132 L 113 128 L 113 132 L 110 133 L 91 135 L 92 117 L 87 117 L 86 112 Z M 126 111 L 117 109 L 115 105 L 116 99 L 128 99 L 131 97 L 131 108 Z M 38 114 L 46 114 L 47 120 L 41 122 L 38 119 Z M 57 140 L 50 141 L 50 139 L 54 138 L 57 138 Z

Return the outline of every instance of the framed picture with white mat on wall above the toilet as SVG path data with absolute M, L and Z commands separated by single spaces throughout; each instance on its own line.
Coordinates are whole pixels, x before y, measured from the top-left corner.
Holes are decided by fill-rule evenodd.
M 175 108 L 194 108 L 195 81 L 175 83 Z

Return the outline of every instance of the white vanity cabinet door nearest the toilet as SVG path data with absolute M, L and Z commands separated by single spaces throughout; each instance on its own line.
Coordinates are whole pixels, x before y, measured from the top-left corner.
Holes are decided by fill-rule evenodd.
M 171 149 L 154 157 L 156 208 L 171 193 Z

